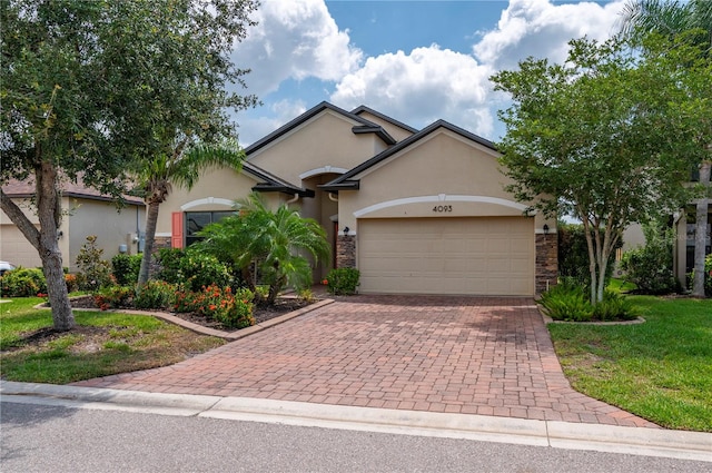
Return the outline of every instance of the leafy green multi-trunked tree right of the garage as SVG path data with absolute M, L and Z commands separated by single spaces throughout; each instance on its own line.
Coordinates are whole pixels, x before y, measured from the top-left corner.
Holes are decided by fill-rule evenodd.
M 563 65 L 530 58 L 492 78 L 513 98 L 500 114 L 506 135 L 497 144 L 514 180 L 508 190 L 583 223 L 594 304 L 625 227 L 689 198 L 682 183 L 700 157 L 700 135 L 709 134 L 699 119 L 710 102 L 690 95 L 709 86 L 704 51 L 683 39 L 674 53 L 661 37 L 647 41 L 637 56 L 616 39 L 573 40 Z

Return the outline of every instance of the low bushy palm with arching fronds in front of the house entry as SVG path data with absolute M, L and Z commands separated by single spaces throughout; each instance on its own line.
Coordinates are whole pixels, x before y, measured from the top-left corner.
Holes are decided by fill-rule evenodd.
M 312 265 L 330 257 L 326 231 L 312 218 L 303 218 L 299 211 L 286 204 L 269 210 L 258 193 L 236 203 L 235 216 L 206 226 L 198 235 L 205 240 L 200 248 L 219 258 L 229 258 L 243 273 L 243 279 L 255 290 L 255 270 L 269 284 L 264 300 L 271 305 L 285 287 L 308 287 L 312 284 Z

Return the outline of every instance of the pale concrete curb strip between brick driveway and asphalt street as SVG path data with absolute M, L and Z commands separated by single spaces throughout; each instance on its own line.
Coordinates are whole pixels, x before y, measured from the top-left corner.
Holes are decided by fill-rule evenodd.
M 6 381 L 0 382 L 0 401 L 464 438 L 712 462 L 712 434 L 705 432 L 339 406 L 248 397 L 144 393 Z

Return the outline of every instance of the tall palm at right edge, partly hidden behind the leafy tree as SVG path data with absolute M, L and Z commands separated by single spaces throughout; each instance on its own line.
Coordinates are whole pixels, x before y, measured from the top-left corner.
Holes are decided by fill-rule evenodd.
M 633 42 L 641 43 L 651 32 L 675 37 L 685 31 L 699 30 L 694 37 L 699 46 L 712 57 L 712 1 L 710 0 L 629 0 L 625 4 L 621 33 Z M 694 240 L 694 278 L 692 294 L 704 297 L 704 258 L 708 233 L 708 215 L 710 206 L 710 173 L 712 169 L 712 144 L 703 145 L 706 159 L 700 162 L 700 185 L 704 194 L 696 201 L 695 240 Z

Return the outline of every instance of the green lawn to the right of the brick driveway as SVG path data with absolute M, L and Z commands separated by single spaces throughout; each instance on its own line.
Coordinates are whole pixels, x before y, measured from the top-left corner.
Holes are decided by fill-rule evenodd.
M 712 299 L 630 297 L 644 324 L 548 325 L 572 386 L 668 428 L 712 432 Z

